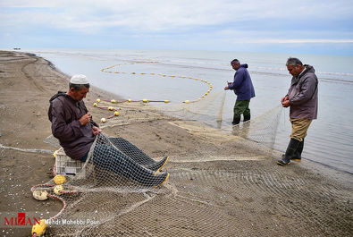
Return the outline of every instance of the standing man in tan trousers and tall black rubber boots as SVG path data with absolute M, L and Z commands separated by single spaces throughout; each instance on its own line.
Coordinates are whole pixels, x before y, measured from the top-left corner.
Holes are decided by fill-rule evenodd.
M 290 144 L 278 165 L 289 165 L 290 160 L 301 161 L 304 138 L 313 119 L 317 118 L 317 77 L 313 66 L 303 65 L 298 58 L 290 57 L 286 63 L 293 76 L 290 89 L 282 97 L 282 106 L 290 107 Z

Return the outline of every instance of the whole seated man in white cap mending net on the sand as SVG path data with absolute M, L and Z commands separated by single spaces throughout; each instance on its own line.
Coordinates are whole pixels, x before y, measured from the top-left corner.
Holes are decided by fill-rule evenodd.
M 74 75 L 69 83 L 69 91 L 66 93 L 59 91 L 51 97 L 48 110 L 53 135 L 60 141 L 66 155 L 83 162 L 88 158 L 88 152 L 101 132 L 83 102 L 88 91 L 87 77 L 80 74 Z M 89 160 L 89 162 L 148 186 L 162 185 L 168 179 L 168 173 L 159 173 L 168 157 L 152 164 L 153 160 L 149 157 L 148 162 L 146 162 L 146 158 L 130 157 L 113 143 L 111 144 L 112 146 L 97 144 L 93 150 L 93 160 Z M 133 146 L 130 143 L 128 145 Z M 141 151 L 137 154 L 147 157 Z

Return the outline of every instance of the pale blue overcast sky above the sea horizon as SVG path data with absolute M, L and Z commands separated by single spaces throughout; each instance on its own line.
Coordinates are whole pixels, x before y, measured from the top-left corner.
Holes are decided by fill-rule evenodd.
M 0 48 L 353 55 L 352 0 L 0 0 Z

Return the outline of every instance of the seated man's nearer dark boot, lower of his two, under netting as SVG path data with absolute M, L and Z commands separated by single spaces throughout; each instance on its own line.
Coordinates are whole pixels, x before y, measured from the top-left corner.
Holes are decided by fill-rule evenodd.
M 169 178 L 168 173 L 151 171 L 137 164 L 120 150 L 106 145 L 96 146 L 93 164 L 147 186 L 158 187 Z

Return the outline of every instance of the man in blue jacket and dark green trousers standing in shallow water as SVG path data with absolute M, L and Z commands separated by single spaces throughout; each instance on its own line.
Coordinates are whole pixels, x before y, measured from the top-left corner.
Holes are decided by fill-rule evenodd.
M 243 114 L 244 122 L 250 120 L 250 99 L 255 97 L 255 89 L 248 73 L 248 64 L 240 64 L 238 59 L 231 61 L 231 67 L 236 71 L 233 82 L 228 82 L 224 89 L 234 90 L 237 101 L 234 105 L 233 125 L 240 123 L 240 116 Z

